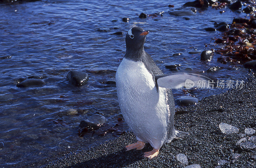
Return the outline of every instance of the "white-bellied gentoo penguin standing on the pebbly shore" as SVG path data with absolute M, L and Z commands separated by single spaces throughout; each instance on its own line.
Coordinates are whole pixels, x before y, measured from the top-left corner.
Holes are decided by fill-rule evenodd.
M 209 78 L 190 73 L 164 75 L 144 43 L 149 31 L 135 26 L 125 37 L 126 53 L 116 71 L 116 89 L 119 106 L 137 142 L 126 150 L 141 150 L 146 143 L 153 147 L 144 157 L 152 159 L 165 143 L 188 135 L 174 128 L 175 105 L 172 90 L 185 86 L 186 80 L 195 84 Z

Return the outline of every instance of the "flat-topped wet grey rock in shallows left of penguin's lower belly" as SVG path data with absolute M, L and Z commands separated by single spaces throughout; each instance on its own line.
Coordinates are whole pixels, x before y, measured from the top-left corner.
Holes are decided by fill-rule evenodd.
M 80 127 L 92 127 L 93 129 L 99 128 L 103 123 L 106 122 L 106 118 L 99 114 L 94 114 L 86 120 L 82 120 L 79 124 Z

